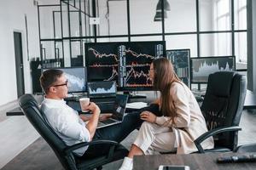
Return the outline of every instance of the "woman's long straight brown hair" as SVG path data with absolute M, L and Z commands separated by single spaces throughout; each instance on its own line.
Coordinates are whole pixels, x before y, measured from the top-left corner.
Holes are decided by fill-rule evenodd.
M 164 116 L 170 116 L 172 122 L 177 116 L 176 107 L 174 105 L 170 89 L 172 82 L 180 82 L 175 71 L 173 70 L 172 63 L 166 58 L 154 59 L 154 88 L 160 91 L 160 110 Z M 171 121 L 170 120 L 170 121 Z

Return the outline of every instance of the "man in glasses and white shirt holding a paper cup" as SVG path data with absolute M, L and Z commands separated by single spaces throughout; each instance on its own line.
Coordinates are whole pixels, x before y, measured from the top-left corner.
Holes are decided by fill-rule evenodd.
M 67 97 L 68 82 L 63 71 L 54 69 L 44 71 L 40 77 L 40 83 L 45 94 L 41 109 L 49 125 L 67 145 L 89 142 L 92 139 L 120 142 L 142 123 L 139 114 L 128 114 L 122 123 L 96 129 L 99 119 L 106 119 L 108 115 L 100 116 L 101 111 L 93 102 L 90 102 L 86 108 L 91 112 L 90 117 L 79 116 L 77 111 L 69 107 L 64 101 Z M 101 144 L 74 150 L 77 156 L 87 158 L 101 156 L 107 152 L 108 147 Z

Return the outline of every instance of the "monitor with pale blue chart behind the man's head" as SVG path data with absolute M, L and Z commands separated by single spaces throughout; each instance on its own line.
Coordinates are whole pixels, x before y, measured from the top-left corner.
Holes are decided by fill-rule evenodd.
M 84 67 L 61 67 L 52 69 L 58 69 L 64 72 L 68 81 L 68 93 L 86 91 L 86 69 Z M 42 72 L 46 70 L 48 69 L 42 69 Z

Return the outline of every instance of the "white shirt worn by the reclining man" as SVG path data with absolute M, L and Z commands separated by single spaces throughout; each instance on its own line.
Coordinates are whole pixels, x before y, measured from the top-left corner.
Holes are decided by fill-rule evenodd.
M 41 105 L 49 125 L 55 133 L 67 145 L 78 144 L 90 141 L 90 133 L 85 127 L 84 121 L 79 117 L 79 113 L 66 104 L 66 101 L 57 99 L 44 99 Z M 78 156 L 83 156 L 88 147 L 74 150 Z

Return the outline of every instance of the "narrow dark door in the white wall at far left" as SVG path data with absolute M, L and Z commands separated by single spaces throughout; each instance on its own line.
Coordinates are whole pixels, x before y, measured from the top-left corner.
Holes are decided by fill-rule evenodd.
M 15 67 L 16 67 L 17 94 L 19 98 L 21 95 L 25 94 L 22 41 L 21 41 L 20 32 L 14 31 L 14 40 L 15 40 Z

